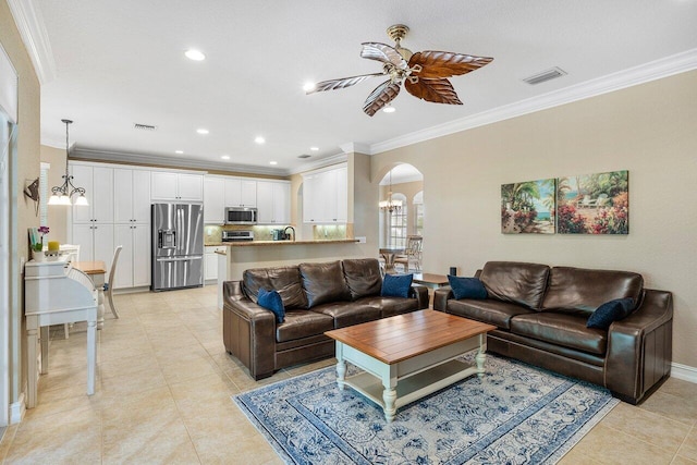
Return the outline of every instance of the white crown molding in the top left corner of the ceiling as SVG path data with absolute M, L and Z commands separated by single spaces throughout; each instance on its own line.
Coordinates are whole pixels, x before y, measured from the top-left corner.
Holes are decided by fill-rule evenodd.
M 14 24 L 34 64 L 41 85 L 56 78 L 56 61 L 41 9 L 35 0 L 8 0 Z

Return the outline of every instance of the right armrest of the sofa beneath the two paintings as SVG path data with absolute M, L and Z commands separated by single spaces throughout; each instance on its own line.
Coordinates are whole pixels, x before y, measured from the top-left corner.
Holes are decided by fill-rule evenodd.
M 632 315 L 608 330 L 606 387 L 636 404 L 671 372 L 673 296 L 646 290 Z

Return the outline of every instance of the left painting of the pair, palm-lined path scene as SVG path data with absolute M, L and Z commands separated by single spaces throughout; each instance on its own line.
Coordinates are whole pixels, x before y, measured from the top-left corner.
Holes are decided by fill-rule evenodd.
M 501 185 L 503 234 L 554 234 L 554 179 Z

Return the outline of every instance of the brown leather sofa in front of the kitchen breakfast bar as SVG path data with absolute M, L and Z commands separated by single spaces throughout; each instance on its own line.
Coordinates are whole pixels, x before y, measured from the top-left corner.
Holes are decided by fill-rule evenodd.
M 259 289 L 278 291 L 285 321 L 256 304 Z M 409 297 L 381 297 L 377 259 L 346 259 L 246 270 L 242 281 L 223 283 L 222 334 L 225 350 L 256 380 L 299 363 L 332 357 L 334 341 L 325 331 L 428 308 L 428 290 Z

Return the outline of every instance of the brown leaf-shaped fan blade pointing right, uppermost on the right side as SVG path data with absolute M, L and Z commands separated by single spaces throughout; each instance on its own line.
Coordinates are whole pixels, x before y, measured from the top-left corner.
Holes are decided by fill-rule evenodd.
M 474 57 L 449 51 L 418 51 L 409 59 L 412 74 L 419 78 L 450 77 L 476 71 L 493 58 Z

